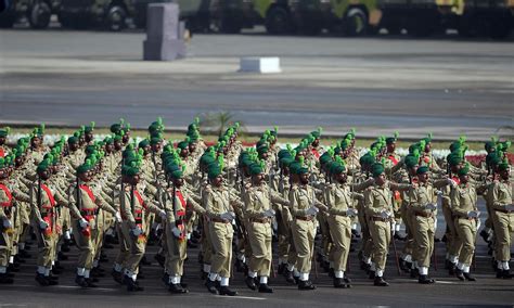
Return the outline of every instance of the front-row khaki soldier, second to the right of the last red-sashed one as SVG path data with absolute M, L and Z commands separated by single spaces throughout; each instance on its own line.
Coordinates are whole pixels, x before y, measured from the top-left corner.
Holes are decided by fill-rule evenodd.
M 260 277 L 259 292 L 272 293 L 273 290 L 268 286 L 272 261 L 271 219 L 275 215 L 271 204 L 280 203 L 283 206 L 288 206 L 288 201 L 266 185 L 266 176 L 259 164 L 250 165 L 249 172 L 252 175 L 252 187 L 244 196 L 244 215 L 248 219 L 247 231 L 252 256 L 248 265 L 248 277 L 245 281 L 250 290 L 256 290 L 255 279 L 258 275 Z

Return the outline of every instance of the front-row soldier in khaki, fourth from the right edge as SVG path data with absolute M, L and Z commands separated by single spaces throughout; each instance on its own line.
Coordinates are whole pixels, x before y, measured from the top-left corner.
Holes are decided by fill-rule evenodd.
M 370 277 L 374 273 L 374 285 L 389 285 L 383 278 L 389 243 L 391 239 L 393 192 L 391 190 L 408 190 L 410 184 L 396 184 L 386 180 L 385 168 L 382 164 L 372 165 L 375 184 L 364 192 L 364 209 L 370 222 L 370 233 L 373 240 L 373 262 Z

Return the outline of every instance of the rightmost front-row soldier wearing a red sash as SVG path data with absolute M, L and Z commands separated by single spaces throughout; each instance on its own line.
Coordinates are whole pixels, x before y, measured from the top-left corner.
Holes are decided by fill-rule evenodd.
M 169 177 L 174 181 L 172 188 L 167 191 L 166 202 L 166 245 L 167 258 L 166 270 L 169 275 L 169 292 L 171 293 L 188 293 L 188 290 L 182 287 L 185 285 L 182 282 L 183 266 L 187 255 L 187 211 L 205 213 L 205 209 L 192 197 L 184 185 L 182 170 L 177 165 L 167 165 L 166 169 Z M 175 201 L 174 201 L 175 198 Z

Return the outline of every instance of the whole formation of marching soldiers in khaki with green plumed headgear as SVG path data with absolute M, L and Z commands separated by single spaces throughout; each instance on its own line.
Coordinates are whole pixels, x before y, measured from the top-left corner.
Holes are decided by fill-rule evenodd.
M 464 138 L 451 143 L 451 153 L 438 163 L 431 136 L 400 157 L 397 134 L 378 138 L 360 155 L 355 131 L 327 149 L 320 145 L 321 129 L 295 147 L 281 149 L 277 128 L 247 147 L 237 140 L 237 124 L 210 146 L 197 120 L 177 144 L 163 138 L 164 129 L 157 119 L 149 137 L 136 143 L 121 119 L 111 126 L 110 137 L 98 140 L 91 123 L 50 147 L 42 143 L 43 125 L 14 146 L 5 145 L 9 129 L 0 130 L 0 283 L 14 282 L 33 235 L 40 285 L 59 283 L 63 252 L 74 243 L 79 251 L 75 282 L 95 287 L 102 248 L 111 239 L 119 249 L 112 277 L 130 292 L 142 291 L 140 264 L 147 241 L 158 234 L 155 258 L 171 293 L 188 292 L 184 260 L 195 241 L 210 293 L 236 295 L 229 287 L 233 264 L 250 290 L 272 293 L 273 236 L 277 272 L 299 290 L 316 288 L 313 262 L 326 269 L 334 287 L 351 287 L 348 255 L 357 239 L 361 269 L 374 285 L 388 285 L 384 272 L 391 244 L 398 268 L 431 284 L 438 210 L 446 222 L 450 275 L 475 281 L 477 230 L 487 215 L 480 235 L 492 249 L 497 278 L 512 278 L 507 141 L 487 142 L 485 162 L 473 166 Z M 478 210 L 478 195 L 487 213 Z M 401 254 L 395 240 L 404 241 Z

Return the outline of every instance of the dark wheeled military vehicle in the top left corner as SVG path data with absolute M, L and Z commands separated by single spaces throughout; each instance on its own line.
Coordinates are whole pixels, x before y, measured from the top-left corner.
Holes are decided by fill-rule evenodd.
M 5 12 L 0 14 L 0 27 L 12 27 L 21 20 L 27 20 L 30 27 L 47 28 L 50 17 L 59 11 L 60 0 L 12 0 Z

